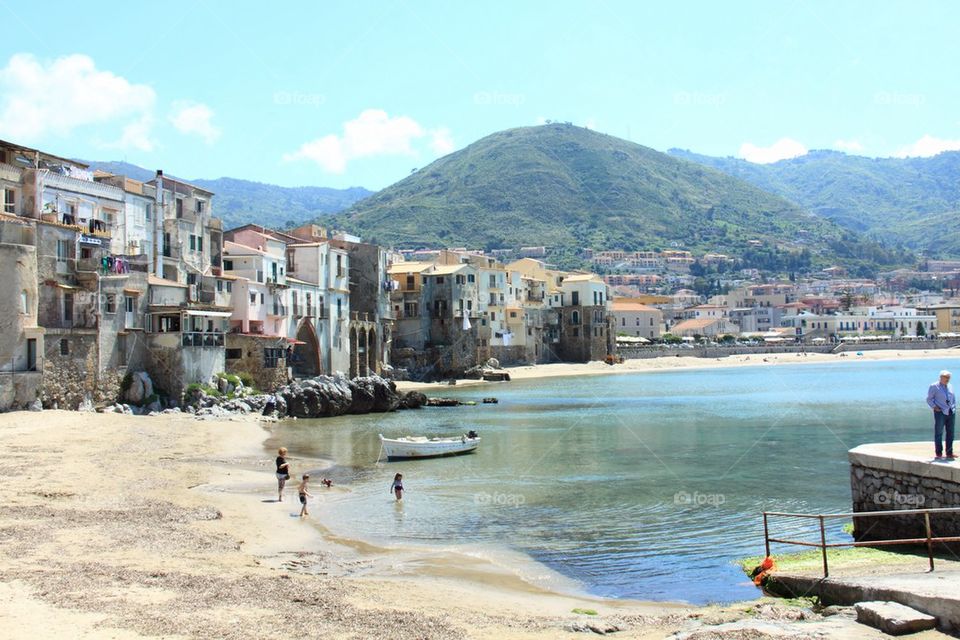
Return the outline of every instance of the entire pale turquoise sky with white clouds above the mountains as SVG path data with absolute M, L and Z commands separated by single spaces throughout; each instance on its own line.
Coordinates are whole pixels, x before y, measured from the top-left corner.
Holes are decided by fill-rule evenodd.
M 957 2 L 0 0 L 0 138 L 380 189 L 572 122 L 751 162 L 960 149 Z

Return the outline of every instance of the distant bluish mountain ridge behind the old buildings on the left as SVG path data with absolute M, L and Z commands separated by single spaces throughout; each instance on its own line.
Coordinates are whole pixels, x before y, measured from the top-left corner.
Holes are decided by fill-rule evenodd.
M 89 164 L 93 169 L 125 175 L 143 182 L 152 180 L 156 175 L 155 171 L 128 162 L 81 162 Z M 226 229 L 248 222 L 278 229 L 296 226 L 342 211 L 372 193 L 362 187 L 280 187 L 236 178 L 184 180 L 215 194 L 214 215 L 223 220 Z

